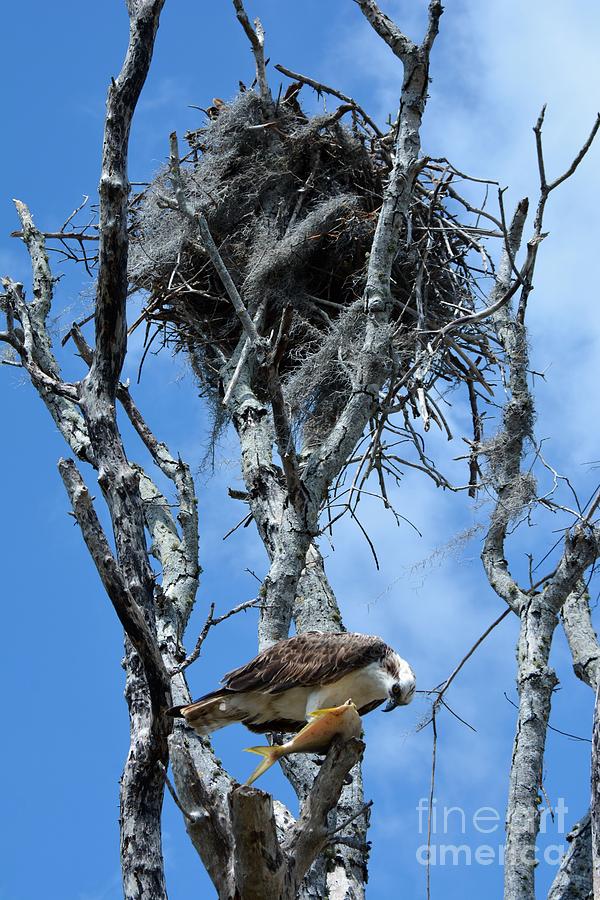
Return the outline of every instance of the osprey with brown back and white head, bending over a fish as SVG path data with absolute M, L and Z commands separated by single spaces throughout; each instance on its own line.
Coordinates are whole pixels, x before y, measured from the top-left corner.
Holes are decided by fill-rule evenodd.
M 171 710 L 200 735 L 232 722 L 250 731 L 298 731 L 315 710 L 351 699 L 361 716 L 387 701 L 384 712 L 405 706 L 415 693 L 409 664 L 367 634 L 303 634 L 278 641 L 253 660 L 228 672 L 223 687 L 188 706 Z

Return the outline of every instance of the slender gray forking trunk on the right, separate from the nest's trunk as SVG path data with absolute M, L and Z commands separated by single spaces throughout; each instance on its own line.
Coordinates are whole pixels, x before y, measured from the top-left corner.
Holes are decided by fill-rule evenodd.
M 572 533 L 566 535 L 560 561 L 554 572 L 544 580 L 539 593 L 534 588 L 523 590 L 511 575 L 506 560 L 505 542 L 509 525 L 536 502 L 535 482 L 530 472 L 523 470 L 525 448 L 527 442 L 533 440 L 534 421 L 534 402 L 528 382 L 525 312 L 537 252 L 544 238 L 542 226 L 546 202 L 551 190 L 564 181 L 563 177 L 550 185 L 546 181 L 541 144 L 542 122 L 543 112 L 534 129 L 538 141 L 540 196 L 533 235 L 527 244 L 527 257 L 513 280 L 521 287 L 519 303 L 516 308 L 513 306 L 511 300 L 515 291 L 508 284 L 516 272 L 515 257 L 527 215 L 527 203 L 524 201 L 519 204 L 507 235 L 496 287 L 500 301 L 490 305 L 492 321 L 505 357 L 508 397 L 502 413 L 502 428 L 491 444 L 484 448 L 496 504 L 484 541 L 482 562 L 492 588 L 521 619 L 517 646 L 519 715 L 506 813 L 505 900 L 535 900 L 535 841 L 540 818 L 538 796 L 552 692 L 557 684 L 556 675 L 549 667 L 552 638 L 563 605 L 577 591 L 584 572 L 597 558 L 600 546 L 598 529 L 590 524 L 588 518 L 582 517 Z M 597 123 L 591 139 L 596 130 Z M 583 158 L 591 139 L 584 144 L 576 160 Z M 575 168 L 576 164 L 568 172 L 572 174 Z M 491 299 L 495 300 L 494 297 Z M 575 611 L 570 609 L 568 615 L 574 624 Z M 574 631 L 572 629 L 571 641 L 579 641 L 576 628 Z M 586 659 L 586 665 L 589 662 L 590 659 Z

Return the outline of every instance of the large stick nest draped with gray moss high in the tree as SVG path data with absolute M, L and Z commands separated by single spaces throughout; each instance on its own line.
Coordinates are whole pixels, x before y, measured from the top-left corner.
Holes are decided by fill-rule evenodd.
M 309 432 L 318 438 L 347 397 L 363 339 L 357 301 L 392 140 L 370 132 L 349 107 L 305 115 L 299 85 L 293 87 L 266 119 L 253 91 L 215 106 L 207 127 L 186 135 L 191 151 L 182 174 L 188 204 L 206 217 L 250 314 L 262 310 L 259 331 L 276 333 L 284 308 L 293 310 L 279 371 L 288 409 L 310 443 Z M 346 113 L 351 126 L 342 124 Z M 421 173 L 393 268 L 400 380 L 416 343 L 427 340 L 423 334 L 475 304 L 477 275 L 469 263 L 475 242 L 445 205 L 443 185 L 432 169 Z M 165 169 L 133 206 L 130 280 L 149 294 L 144 318 L 157 324 L 155 333 L 192 353 L 216 408 L 224 360 L 240 352 L 244 336 L 198 232 L 165 208 L 161 197 L 172 194 Z M 481 355 L 474 337 L 476 346 L 467 349 Z M 435 354 L 426 376 L 421 372 L 429 384 L 464 375 L 464 365 L 447 352 Z M 260 382 L 254 387 L 263 391 Z

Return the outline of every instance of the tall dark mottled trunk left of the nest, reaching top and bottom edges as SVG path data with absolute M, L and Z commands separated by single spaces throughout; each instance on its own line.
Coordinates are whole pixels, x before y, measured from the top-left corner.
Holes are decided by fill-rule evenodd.
M 129 131 L 150 68 L 163 3 L 140 0 L 130 5 L 129 46 L 121 72 L 108 92 L 99 185 L 96 345 L 89 374 L 80 389 L 81 409 L 95 448 L 98 483 L 110 511 L 119 564 L 153 632 L 154 581 L 147 557 L 143 508 L 137 475 L 129 465 L 117 427 L 115 398 L 127 348 Z M 131 743 L 121 779 L 123 890 L 128 900 L 159 900 L 166 897 L 160 824 L 164 781 L 160 766 L 168 765 L 168 726 L 163 713 L 170 696 L 160 698 L 152 690 L 149 671 L 129 643 L 125 669 Z

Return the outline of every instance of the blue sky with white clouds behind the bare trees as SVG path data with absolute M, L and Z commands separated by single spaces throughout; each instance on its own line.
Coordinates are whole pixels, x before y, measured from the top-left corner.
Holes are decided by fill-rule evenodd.
M 276 0 L 249 3 L 248 8 L 263 20 L 273 62 L 336 84 L 382 121 L 394 112 L 399 65 L 350 0 L 326 5 L 305 0 L 300 12 L 297 4 Z M 419 36 L 424 2 L 394 0 L 384 8 Z M 54 229 L 82 194 L 94 195 L 105 91 L 120 67 L 127 22 L 121 0 L 86 4 L 85 12 L 74 0 L 6 4 L 2 18 L 0 274 L 27 284 L 26 255 L 8 237 L 17 227 L 10 198 L 28 202 L 38 225 Z M 599 37 L 600 10 L 590 0 L 568 6 L 559 0 L 447 0 L 432 62 L 425 151 L 448 156 L 473 174 L 498 178 L 509 186 L 508 205 L 533 195 L 531 126 L 547 101 L 548 169 L 562 170 L 599 105 L 597 90 L 592 90 L 600 84 Z M 239 78 L 251 80 L 251 69 L 247 42 L 229 3 L 167 0 L 133 128 L 131 179 L 146 180 L 159 168 L 170 131 L 182 134 L 202 123 L 192 104 L 206 106 L 213 96 L 231 97 Z M 278 83 L 273 73 L 272 83 Z M 583 497 L 598 474 L 586 463 L 600 456 L 595 413 L 600 319 L 590 277 L 590 262 L 597 256 L 599 161 L 596 147 L 575 179 L 553 197 L 550 236 L 530 304 L 533 367 L 546 374 L 545 380 L 536 379 L 538 437 L 547 439 L 547 457 L 569 474 Z M 64 272 L 56 301 L 55 333 L 60 336 L 88 307 L 89 285 L 79 271 L 58 266 L 57 272 Z M 125 373 L 132 380 L 140 352 L 139 338 L 134 338 Z M 81 374 L 69 354 L 61 361 L 68 377 Z M 56 471 L 65 452 L 62 440 L 17 370 L 2 367 L 0 391 L 7 422 L 0 443 L 5 473 L 0 665 L 11 711 L 2 744 L 8 777 L 0 898 L 114 900 L 120 896 L 117 782 L 127 746 L 120 629 L 66 514 Z M 243 513 L 226 497 L 227 486 L 239 483 L 235 441 L 231 436 L 223 441 L 214 475 L 199 471 L 208 422 L 184 360 L 167 353 L 150 357 L 135 393 L 157 435 L 197 470 L 204 575 L 188 632 L 192 646 L 211 601 L 224 611 L 254 595 L 256 582 L 246 570 L 262 577 L 265 556 L 251 528 L 222 540 Z M 460 433 L 460 403 L 451 415 Z M 132 458 L 146 462 L 128 432 L 127 439 Z M 436 435 L 431 440 L 448 470 L 464 481 L 459 464 L 452 461 L 464 445 L 448 444 Z M 363 515 L 376 539 L 379 572 L 349 523 L 342 522 L 333 545 L 324 542 L 322 549 L 348 627 L 382 635 L 411 661 L 421 687 L 429 687 L 449 673 L 502 611 L 478 558 L 477 526 L 485 524 L 487 509 L 413 476 L 407 476 L 395 500 L 423 537 L 408 526 L 397 529 L 378 507 L 367 504 Z M 543 555 L 560 524 L 548 516 L 535 529 L 519 532 L 511 543 L 515 568 L 524 570 L 527 552 Z M 468 529 L 475 529 L 475 537 L 457 541 Z M 254 614 L 245 613 L 213 634 L 189 672 L 195 693 L 210 689 L 225 669 L 254 653 L 254 625 Z M 516 622 L 508 619 L 452 690 L 450 702 L 477 732 L 450 717 L 440 722 L 438 848 L 465 844 L 475 853 L 486 844 L 497 855 L 502 843 L 501 822 L 484 834 L 473 825 L 473 815 L 492 807 L 503 816 L 515 718 L 504 692 L 514 699 L 515 639 Z M 565 731 L 587 735 L 591 692 L 573 678 L 560 635 L 554 664 L 561 690 L 552 721 Z M 399 877 L 406 896 L 424 896 L 425 873 L 416 853 L 424 842 L 417 806 L 429 785 L 431 735 L 417 731 L 425 711 L 415 703 L 394 716 L 375 712 L 366 720 L 366 791 L 375 800 L 372 900 L 394 896 Z M 241 728 L 215 740 L 227 767 L 240 778 L 253 765 L 240 752 L 247 744 Z M 553 804 L 564 798 L 567 827 L 587 805 L 588 746 L 554 733 L 548 738 L 545 787 Z M 265 776 L 263 786 L 292 802 L 277 771 Z M 448 834 L 440 833 L 444 807 L 456 806 L 464 809 L 465 834 L 462 815 L 456 812 L 447 817 Z M 212 896 L 169 798 L 165 807 L 172 900 Z M 563 842 L 558 827 L 547 831 L 546 843 Z M 540 896 L 552 871 L 551 865 L 540 866 Z M 433 896 L 453 900 L 484 891 L 497 896 L 501 877 L 495 859 L 489 865 L 446 862 L 433 868 Z

